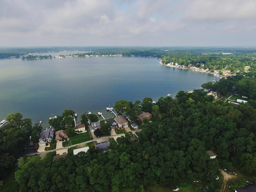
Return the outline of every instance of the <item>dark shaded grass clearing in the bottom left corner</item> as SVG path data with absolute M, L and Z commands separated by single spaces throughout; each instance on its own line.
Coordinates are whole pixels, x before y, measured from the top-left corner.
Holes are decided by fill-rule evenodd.
M 18 190 L 18 184 L 15 182 L 14 179 L 15 170 L 15 168 L 12 168 L 9 172 L 9 175 L 3 179 L 4 185 L 0 190 L 1 192 L 15 192 Z

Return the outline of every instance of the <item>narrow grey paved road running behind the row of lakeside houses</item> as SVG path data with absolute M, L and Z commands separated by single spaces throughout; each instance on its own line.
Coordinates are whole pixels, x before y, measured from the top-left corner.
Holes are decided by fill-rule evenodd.
M 134 130 L 132 131 L 132 133 L 136 133 L 136 132 L 141 132 L 142 129 L 137 129 L 137 130 Z M 124 136 L 124 134 L 117 134 L 115 136 Z M 43 152 L 34 152 L 34 153 L 29 153 L 29 154 L 22 154 L 21 156 L 33 156 L 33 155 L 39 155 L 39 154 L 45 154 L 45 153 L 49 153 L 49 152 L 54 152 L 54 151 L 58 151 L 58 150 L 64 150 L 64 149 L 68 149 L 68 148 L 71 148 L 71 147 L 75 147 L 77 145 L 83 145 L 83 144 L 86 144 L 86 143 L 90 143 L 90 142 L 94 142 L 94 141 L 99 141 L 99 140 L 102 140 L 102 139 L 106 139 L 106 138 L 111 138 L 112 136 L 103 136 L 103 137 L 99 137 L 99 138 L 94 138 L 90 141 L 85 141 L 83 143 L 77 143 L 75 145 L 69 145 L 67 147 L 62 147 L 62 148 L 58 148 L 58 149 L 54 149 L 54 150 L 49 150 L 49 151 L 43 151 Z

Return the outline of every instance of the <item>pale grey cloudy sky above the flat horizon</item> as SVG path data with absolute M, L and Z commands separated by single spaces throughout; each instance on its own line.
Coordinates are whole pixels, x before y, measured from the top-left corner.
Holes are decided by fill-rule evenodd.
M 255 0 L 1 0 L 0 47 L 256 47 Z

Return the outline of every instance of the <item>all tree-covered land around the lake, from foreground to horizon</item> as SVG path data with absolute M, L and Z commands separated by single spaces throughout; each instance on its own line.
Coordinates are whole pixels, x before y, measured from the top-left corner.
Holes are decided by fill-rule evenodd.
M 11 58 L 40 52 L 39 48 L 12 50 L 0 49 L 0 56 Z M 181 90 L 174 97 L 161 97 L 157 102 L 148 97 L 134 103 L 117 101 L 115 110 L 119 115 L 124 113 L 139 125 L 138 137 L 128 132 L 117 143 L 110 138 L 110 147 L 104 152 L 98 152 L 92 144 L 88 152 L 68 153 L 55 163 L 54 152 L 45 158 L 20 157 L 24 146 L 29 145 L 29 136 L 36 141 L 42 127 L 33 126 L 30 119 L 22 119 L 22 114 L 8 114 L 9 123 L 0 127 L 0 189 L 8 191 L 4 182 L 12 172 L 15 172 L 13 191 L 20 192 L 145 192 L 159 188 L 233 192 L 256 182 L 256 49 L 74 47 L 74 50 L 90 50 L 77 54 L 79 57 L 89 54 L 157 57 L 165 65 L 177 63 L 220 73 L 229 70 L 231 75 L 218 82 L 204 83 L 202 89 L 193 92 Z M 233 102 L 237 99 L 244 102 L 238 105 Z M 139 122 L 136 116 L 141 112 L 152 114 L 152 118 Z M 61 123 L 54 124 L 54 120 L 49 125 L 70 129 L 73 125 L 64 121 L 64 116 L 58 117 Z M 81 123 L 86 124 L 87 117 L 81 116 L 84 120 Z M 216 158 L 211 159 L 207 151 L 214 152 Z M 227 180 L 224 173 L 232 179 Z

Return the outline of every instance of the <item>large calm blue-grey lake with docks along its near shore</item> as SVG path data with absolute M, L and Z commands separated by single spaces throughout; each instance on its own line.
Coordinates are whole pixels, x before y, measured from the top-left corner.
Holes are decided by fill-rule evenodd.
M 66 54 L 66 53 L 65 53 Z M 157 58 L 89 57 L 46 60 L 0 60 L 0 119 L 19 112 L 32 123 L 74 110 L 112 114 L 117 100 L 157 101 L 180 90 L 199 89 L 212 74 L 165 67 Z M 102 109 L 100 107 L 103 107 Z M 78 119 L 78 123 L 80 123 Z

